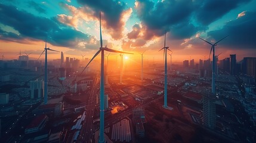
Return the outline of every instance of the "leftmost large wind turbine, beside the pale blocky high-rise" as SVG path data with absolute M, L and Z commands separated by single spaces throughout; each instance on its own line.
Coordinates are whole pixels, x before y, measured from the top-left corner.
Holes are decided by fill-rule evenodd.
M 45 48 L 44 48 L 44 51 L 42 52 L 42 54 L 45 52 L 45 76 L 44 76 L 44 104 L 47 104 L 47 100 L 48 100 L 48 91 L 47 91 L 47 50 L 49 51 L 54 51 L 54 52 L 60 52 L 60 51 L 56 51 L 54 49 L 50 49 L 50 48 L 47 48 L 47 35 L 45 36 Z M 42 55 L 41 54 L 41 55 Z M 39 58 L 41 57 L 41 55 L 39 56 Z M 39 60 L 38 58 L 38 60 Z

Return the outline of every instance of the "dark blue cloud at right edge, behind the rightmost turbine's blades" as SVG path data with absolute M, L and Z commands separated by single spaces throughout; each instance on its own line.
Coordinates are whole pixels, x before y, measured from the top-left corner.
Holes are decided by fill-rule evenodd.
M 221 45 L 226 45 L 229 48 L 256 49 L 256 12 L 246 12 L 244 16 L 236 20 L 229 21 L 222 29 L 208 32 L 208 36 L 216 41 L 229 35 L 221 41 Z

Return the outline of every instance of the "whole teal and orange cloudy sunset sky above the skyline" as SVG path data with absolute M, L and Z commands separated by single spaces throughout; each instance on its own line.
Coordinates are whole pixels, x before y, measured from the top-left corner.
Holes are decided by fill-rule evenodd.
M 0 54 L 15 59 L 32 52 L 38 57 L 48 46 L 66 56 L 92 57 L 100 46 L 101 11 L 103 45 L 122 51 L 145 52 L 162 60 L 164 35 L 172 61 L 209 57 L 218 43 L 220 59 L 236 54 L 238 61 L 256 55 L 256 0 L 1 0 Z M 50 58 L 60 54 L 49 52 Z M 134 56 L 139 57 L 138 54 Z

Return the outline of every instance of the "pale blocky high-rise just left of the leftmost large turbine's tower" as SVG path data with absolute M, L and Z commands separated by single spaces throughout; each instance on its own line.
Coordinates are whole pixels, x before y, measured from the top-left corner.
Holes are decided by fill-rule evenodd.
M 42 98 L 44 97 L 44 81 L 33 80 L 30 81 L 30 98 Z

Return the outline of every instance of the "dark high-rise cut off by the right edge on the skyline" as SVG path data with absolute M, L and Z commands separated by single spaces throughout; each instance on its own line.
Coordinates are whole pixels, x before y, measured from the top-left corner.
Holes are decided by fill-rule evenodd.
M 242 70 L 244 74 L 256 78 L 256 57 L 243 58 Z

